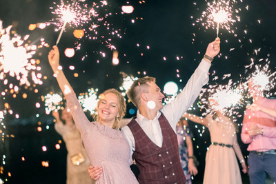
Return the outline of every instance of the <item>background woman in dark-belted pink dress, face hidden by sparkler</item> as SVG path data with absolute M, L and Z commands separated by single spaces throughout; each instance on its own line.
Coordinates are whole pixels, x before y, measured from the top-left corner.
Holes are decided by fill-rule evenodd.
M 204 118 L 193 114 L 184 114 L 184 117 L 208 127 L 210 132 L 211 145 L 206 153 L 203 183 L 242 184 L 237 157 L 244 173 L 248 172 L 248 167 L 237 143 L 237 132 L 233 121 L 219 110 L 215 110 L 215 114 L 208 114 Z

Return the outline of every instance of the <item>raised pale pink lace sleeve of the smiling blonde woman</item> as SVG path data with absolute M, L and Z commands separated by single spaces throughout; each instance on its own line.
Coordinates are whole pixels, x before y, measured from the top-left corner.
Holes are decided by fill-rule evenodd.
M 66 101 L 79 132 L 86 133 L 90 121 L 86 117 L 86 114 L 84 114 L 76 94 L 74 92 L 66 94 Z

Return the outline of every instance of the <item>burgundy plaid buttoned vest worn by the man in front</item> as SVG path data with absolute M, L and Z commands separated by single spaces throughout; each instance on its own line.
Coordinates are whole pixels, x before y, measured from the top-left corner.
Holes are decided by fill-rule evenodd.
M 177 134 L 164 114 L 158 119 L 163 136 L 162 147 L 158 147 L 148 138 L 135 119 L 136 117 L 128 123 L 128 127 L 135 139 L 133 159 L 139 168 L 139 183 L 186 183 L 179 159 Z

